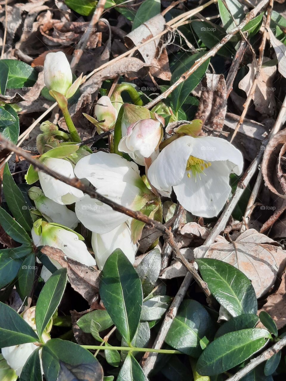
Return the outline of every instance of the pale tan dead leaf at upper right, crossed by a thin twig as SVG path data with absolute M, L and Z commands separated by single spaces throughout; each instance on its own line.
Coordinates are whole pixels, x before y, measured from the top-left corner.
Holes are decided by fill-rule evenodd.
M 270 61 L 270 58 L 264 57 L 263 63 L 265 64 L 268 61 Z M 257 62 L 253 60 L 247 66 L 249 67 L 249 72 L 239 82 L 238 87 L 248 96 L 254 80 Z M 275 87 L 273 87 L 275 73 L 276 66 L 262 66 L 260 70 L 257 85 L 252 96 L 255 110 L 260 112 L 260 114 L 273 115 L 275 112 Z

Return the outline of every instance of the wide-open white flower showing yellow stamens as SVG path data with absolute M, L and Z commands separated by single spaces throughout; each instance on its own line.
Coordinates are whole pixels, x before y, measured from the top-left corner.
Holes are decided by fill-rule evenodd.
M 167 145 L 148 170 L 162 194 L 171 187 L 193 215 L 217 216 L 230 195 L 230 173 L 241 174 L 243 156 L 228 141 L 212 136 L 182 136 Z

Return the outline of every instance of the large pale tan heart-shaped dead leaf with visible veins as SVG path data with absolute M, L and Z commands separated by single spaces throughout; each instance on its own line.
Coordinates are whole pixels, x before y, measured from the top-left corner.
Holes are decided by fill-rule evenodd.
M 213 258 L 242 271 L 252 282 L 257 298 L 269 291 L 286 264 L 286 252 L 266 235 L 249 229 L 233 241 L 194 249 L 195 258 Z

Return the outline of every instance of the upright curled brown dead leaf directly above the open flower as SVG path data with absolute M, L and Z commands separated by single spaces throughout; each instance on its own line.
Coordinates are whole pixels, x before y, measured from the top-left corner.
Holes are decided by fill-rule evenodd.
M 206 74 L 195 119 L 201 119 L 216 131 L 222 131 L 227 112 L 227 86 L 222 74 Z

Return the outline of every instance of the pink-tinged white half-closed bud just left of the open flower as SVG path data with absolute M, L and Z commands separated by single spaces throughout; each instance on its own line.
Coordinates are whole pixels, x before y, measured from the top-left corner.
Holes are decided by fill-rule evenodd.
M 144 158 L 150 157 L 162 140 L 161 122 L 157 119 L 142 119 L 132 123 L 126 135 L 120 140 L 118 150 L 129 154 L 139 165 L 145 165 Z

